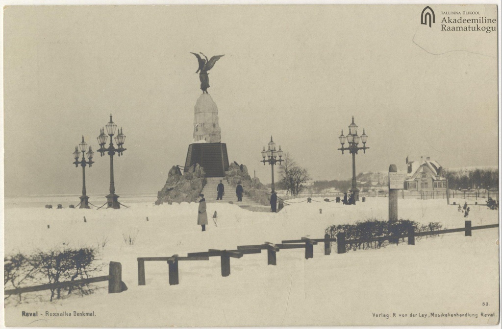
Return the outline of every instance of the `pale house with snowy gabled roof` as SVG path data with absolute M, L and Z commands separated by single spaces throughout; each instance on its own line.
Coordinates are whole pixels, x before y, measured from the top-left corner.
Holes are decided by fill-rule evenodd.
M 446 191 L 443 167 L 427 157 L 420 161 L 407 161 L 408 172 L 404 184 L 408 191 Z

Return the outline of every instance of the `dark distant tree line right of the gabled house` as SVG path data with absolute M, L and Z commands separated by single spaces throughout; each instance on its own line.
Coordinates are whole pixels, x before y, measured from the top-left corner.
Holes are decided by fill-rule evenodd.
M 452 190 L 490 189 L 498 190 L 497 169 L 444 170 L 448 188 Z

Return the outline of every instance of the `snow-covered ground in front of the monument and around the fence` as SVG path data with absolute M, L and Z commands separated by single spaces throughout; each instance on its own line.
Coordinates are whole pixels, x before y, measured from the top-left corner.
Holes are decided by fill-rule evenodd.
M 296 201 L 302 201 L 298 199 Z M 314 258 L 304 249 L 281 250 L 277 266 L 267 252 L 231 258 L 222 277 L 219 257 L 179 263 L 180 284 L 170 286 L 165 262 L 146 262 L 146 285 L 138 285 L 137 257 L 161 257 L 208 249 L 236 249 L 265 241 L 323 238 L 329 225 L 367 218 L 387 220 L 388 199 L 367 198 L 356 206 L 335 202 L 298 203 L 278 214 L 249 212 L 236 205 L 207 204 L 206 232 L 197 226 L 197 204 L 154 206 L 129 203 L 130 209 L 80 210 L 20 208 L 6 203 L 5 253 L 30 253 L 61 246 L 94 246 L 102 262 L 122 264 L 128 290 L 104 289 L 54 302 L 7 303 L 6 324 L 25 326 L 278 326 L 278 325 L 429 325 L 495 324 L 498 321 L 498 229 L 421 239 L 378 250 Z M 289 200 L 295 202 L 295 200 Z M 460 199 L 451 200 L 457 204 Z M 463 214 L 446 200 L 398 200 L 399 217 L 445 228 L 464 226 Z M 473 204 L 473 201 L 468 201 Z M 482 203 L 482 201 L 480 202 Z M 74 203 L 76 204 L 76 203 Z M 64 205 L 67 207 L 67 205 Z M 100 205 L 99 205 L 100 206 Z M 473 226 L 498 223 L 498 212 L 470 206 Z M 319 212 L 322 209 L 322 214 Z M 211 215 L 217 211 L 217 226 Z M 83 217 L 86 221 L 84 223 Z M 148 217 L 148 221 L 146 218 Z M 50 229 L 47 228 L 50 225 Z M 137 233 L 134 245 L 123 234 Z M 107 240 L 104 248 L 98 245 Z M 107 268 L 107 267 L 106 267 Z M 96 273 L 106 275 L 105 273 Z M 49 293 L 42 292 L 42 293 Z M 483 306 L 488 303 L 488 306 Z M 22 311 L 38 311 L 23 317 Z M 93 317 L 51 317 L 45 312 L 92 312 Z M 481 314 L 495 313 L 495 316 Z M 431 316 L 435 313 L 440 316 Z M 448 314 L 467 316 L 441 316 Z M 406 316 L 400 316 L 406 315 Z M 415 315 L 415 316 L 414 316 Z M 424 316 L 425 315 L 425 316 Z

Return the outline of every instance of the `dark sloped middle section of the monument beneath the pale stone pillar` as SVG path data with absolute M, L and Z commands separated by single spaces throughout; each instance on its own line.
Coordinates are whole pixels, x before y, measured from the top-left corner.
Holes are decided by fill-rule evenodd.
M 224 177 L 229 166 L 226 144 L 192 143 L 188 145 L 184 172 L 196 163 L 204 168 L 205 177 Z

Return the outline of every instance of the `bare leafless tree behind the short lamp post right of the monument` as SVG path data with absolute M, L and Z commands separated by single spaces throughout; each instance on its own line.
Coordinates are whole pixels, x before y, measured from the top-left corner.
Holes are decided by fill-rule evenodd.
M 289 152 L 285 152 L 282 158 L 284 161 L 279 167 L 281 180 L 278 185 L 287 193 L 297 196 L 305 188 L 304 184 L 310 180 L 310 176 L 306 169 L 297 166 Z

